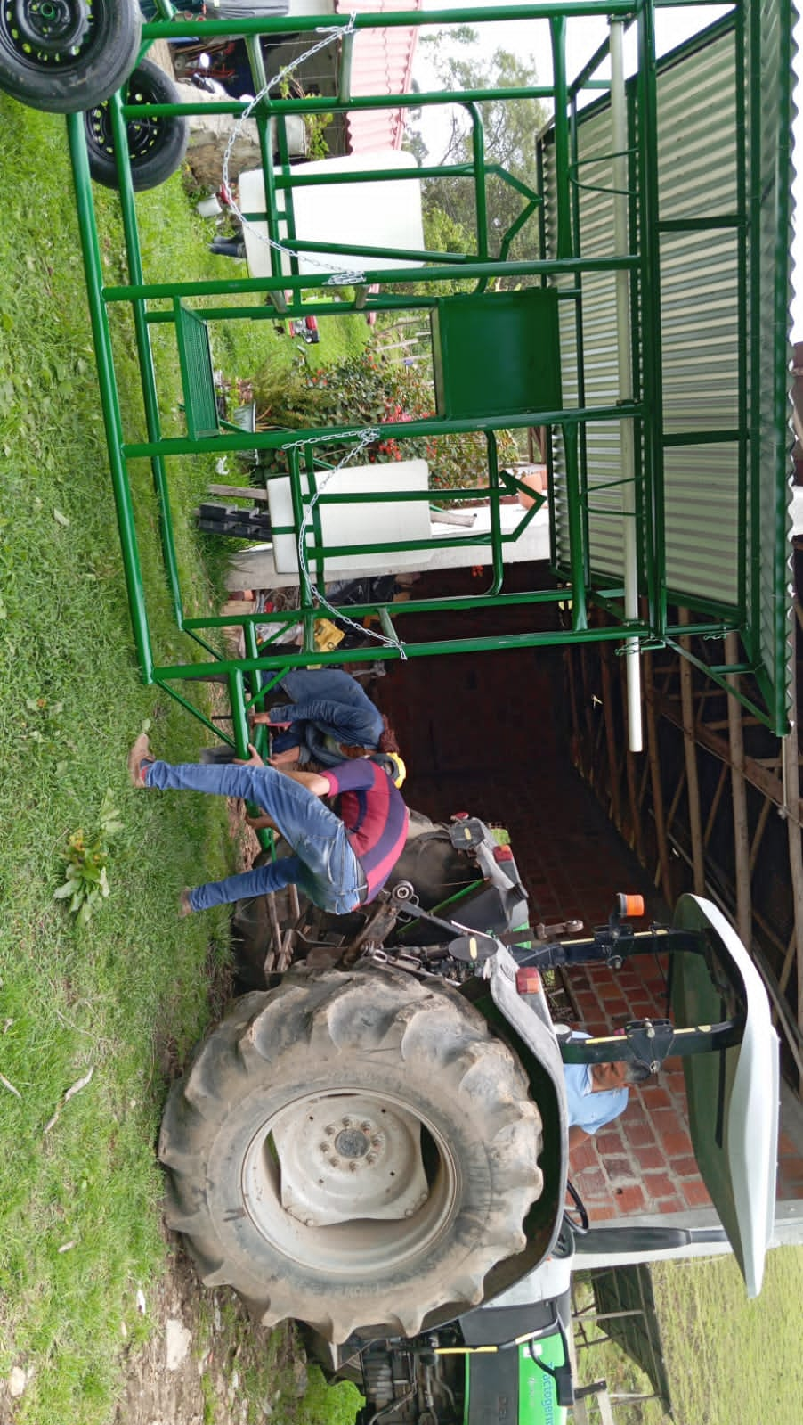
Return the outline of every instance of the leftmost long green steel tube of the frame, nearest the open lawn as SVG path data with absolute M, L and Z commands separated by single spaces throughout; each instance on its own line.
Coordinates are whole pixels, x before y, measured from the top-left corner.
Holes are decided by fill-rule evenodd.
M 93 212 L 90 162 L 87 158 L 87 140 L 84 134 L 83 114 L 67 115 L 67 138 L 70 142 L 70 158 L 73 162 L 73 177 L 75 182 L 75 211 L 78 217 L 81 256 L 87 282 L 87 304 L 90 308 L 90 322 L 93 328 L 93 342 L 98 368 L 103 422 L 108 447 L 108 463 L 114 490 L 114 504 L 117 509 L 117 527 L 120 530 L 120 547 L 122 551 L 122 569 L 128 591 L 134 646 L 137 648 L 137 660 L 142 673 L 142 681 L 152 683 L 154 660 L 151 651 L 151 633 L 148 628 L 148 614 L 145 608 L 145 590 L 142 584 L 142 569 L 140 566 L 140 549 L 134 526 L 134 510 L 131 507 L 131 489 L 128 484 L 125 460 L 122 457 L 122 419 L 120 413 L 117 383 L 114 379 L 114 352 L 108 329 L 108 316 L 101 296 L 103 268 Z

